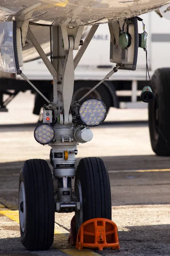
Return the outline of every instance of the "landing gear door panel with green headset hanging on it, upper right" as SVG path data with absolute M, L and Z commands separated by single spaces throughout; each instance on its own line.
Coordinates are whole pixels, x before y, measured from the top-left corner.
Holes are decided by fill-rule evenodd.
M 110 61 L 121 64 L 121 70 L 136 70 L 138 56 L 138 23 L 137 18 L 120 20 L 119 22 L 111 22 L 108 24 L 111 34 L 110 44 Z M 119 35 L 122 30 L 128 35 L 131 43 L 129 47 L 121 47 L 119 44 Z

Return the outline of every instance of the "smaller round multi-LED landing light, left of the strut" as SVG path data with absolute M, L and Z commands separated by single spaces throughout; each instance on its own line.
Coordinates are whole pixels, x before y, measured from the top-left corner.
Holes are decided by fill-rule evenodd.
M 46 145 L 54 140 L 55 131 L 51 125 L 42 124 L 38 125 L 34 130 L 34 138 L 38 143 Z

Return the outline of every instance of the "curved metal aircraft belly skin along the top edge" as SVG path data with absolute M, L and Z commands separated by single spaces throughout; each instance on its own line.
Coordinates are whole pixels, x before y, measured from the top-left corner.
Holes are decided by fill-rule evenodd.
M 167 3 L 170 0 L 1 0 L 0 21 L 25 20 L 30 12 L 34 23 L 61 25 L 67 18 L 78 18 L 90 25 L 134 17 Z

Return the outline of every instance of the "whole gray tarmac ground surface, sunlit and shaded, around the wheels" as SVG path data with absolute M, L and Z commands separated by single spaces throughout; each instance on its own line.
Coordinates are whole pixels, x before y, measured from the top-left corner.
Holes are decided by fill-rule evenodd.
M 22 93 L 10 103 L 9 113 L 0 113 L 0 256 L 99 256 L 97 250 L 79 252 L 67 242 L 73 213 L 56 213 L 54 244 L 49 251 L 28 252 L 20 243 L 20 169 L 30 158 L 49 163 L 50 148 L 34 140 L 38 118 L 31 114 L 32 106 L 33 95 Z M 170 256 L 170 157 L 157 157 L 151 149 L 147 110 L 111 109 L 105 123 L 93 132 L 94 139 L 79 146 L 77 163 L 87 156 L 105 161 L 111 182 L 112 220 L 118 227 L 121 247 L 120 251 L 105 249 L 100 254 Z

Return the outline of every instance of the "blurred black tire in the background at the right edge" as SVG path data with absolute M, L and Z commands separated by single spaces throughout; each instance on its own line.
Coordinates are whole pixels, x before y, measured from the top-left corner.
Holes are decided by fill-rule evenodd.
M 156 114 L 156 99 L 149 103 L 149 131 L 153 151 L 159 156 L 170 156 L 170 149 L 156 125 L 170 145 L 170 68 L 155 71 L 152 77 L 153 88 L 158 99 Z

